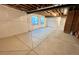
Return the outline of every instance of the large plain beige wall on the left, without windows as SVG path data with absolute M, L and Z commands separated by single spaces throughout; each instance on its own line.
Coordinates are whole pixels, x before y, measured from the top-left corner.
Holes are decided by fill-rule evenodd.
M 27 14 L 4 5 L 0 5 L 0 38 L 28 32 Z

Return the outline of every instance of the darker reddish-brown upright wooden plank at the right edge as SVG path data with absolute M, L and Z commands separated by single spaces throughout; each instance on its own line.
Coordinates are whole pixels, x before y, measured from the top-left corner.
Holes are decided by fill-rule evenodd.
M 76 37 L 79 36 L 79 10 L 76 10 L 72 24 L 72 32 Z

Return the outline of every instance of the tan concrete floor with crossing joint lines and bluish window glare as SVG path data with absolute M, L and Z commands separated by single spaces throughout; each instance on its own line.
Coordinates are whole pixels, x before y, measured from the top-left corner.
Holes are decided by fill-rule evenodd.
M 79 54 L 79 40 L 63 31 L 41 28 L 0 39 L 0 54 Z

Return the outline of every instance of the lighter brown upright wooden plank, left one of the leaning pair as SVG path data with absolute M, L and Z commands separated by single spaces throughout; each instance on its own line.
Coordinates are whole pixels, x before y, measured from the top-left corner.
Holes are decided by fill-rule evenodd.
M 65 27 L 64 27 L 64 32 L 65 33 L 70 33 L 71 32 L 74 14 L 75 14 L 74 10 L 68 12 Z

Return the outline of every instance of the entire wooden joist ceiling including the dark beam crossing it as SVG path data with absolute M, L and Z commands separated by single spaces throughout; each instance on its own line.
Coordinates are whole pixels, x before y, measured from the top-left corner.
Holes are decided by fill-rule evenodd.
M 18 9 L 18 10 L 22 10 L 27 12 L 28 14 L 30 13 L 38 13 L 38 14 L 42 14 L 42 15 L 52 15 L 54 16 L 54 14 L 56 14 L 57 16 L 61 16 L 63 15 L 64 11 L 63 8 L 65 7 L 71 7 L 71 6 L 75 6 L 75 5 L 69 5 L 69 4 L 64 4 L 64 5 L 60 5 L 60 4 L 5 4 L 6 6 Z M 79 5 L 76 5 L 79 6 Z

